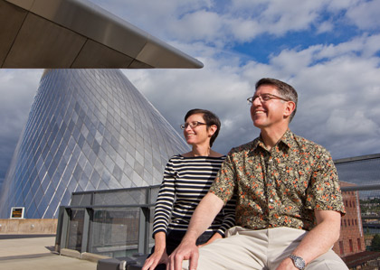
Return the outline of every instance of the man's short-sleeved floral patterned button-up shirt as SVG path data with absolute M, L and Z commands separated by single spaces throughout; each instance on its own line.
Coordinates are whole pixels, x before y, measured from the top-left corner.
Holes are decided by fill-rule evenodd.
M 261 138 L 233 148 L 210 188 L 226 203 L 237 194 L 236 225 L 310 230 L 314 209 L 345 208 L 328 151 L 288 130 L 268 151 Z

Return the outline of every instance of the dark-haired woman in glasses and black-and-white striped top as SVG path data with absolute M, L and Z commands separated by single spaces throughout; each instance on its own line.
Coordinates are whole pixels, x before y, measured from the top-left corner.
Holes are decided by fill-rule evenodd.
M 208 110 L 195 108 L 185 115 L 181 128 L 192 150 L 173 156 L 166 164 L 153 223 L 155 247 L 142 270 L 166 269 L 167 257 L 185 236 L 196 206 L 214 182 L 225 159 L 225 155 L 211 149 L 220 126 L 219 118 Z M 224 232 L 233 226 L 234 203 L 231 201 L 197 239 L 197 245 L 204 246 L 224 237 Z

